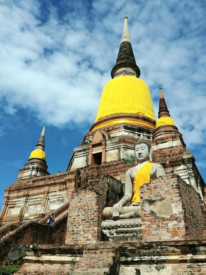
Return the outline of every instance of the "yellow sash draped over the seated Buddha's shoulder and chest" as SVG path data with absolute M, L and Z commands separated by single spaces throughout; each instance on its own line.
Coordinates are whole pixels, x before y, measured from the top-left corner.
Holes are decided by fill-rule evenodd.
M 150 172 L 153 167 L 152 162 L 147 162 L 143 167 L 141 167 L 135 174 L 135 193 L 133 196 L 132 201 L 136 204 L 140 201 L 140 195 L 139 195 L 139 186 L 142 186 L 144 183 L 150 182 Z

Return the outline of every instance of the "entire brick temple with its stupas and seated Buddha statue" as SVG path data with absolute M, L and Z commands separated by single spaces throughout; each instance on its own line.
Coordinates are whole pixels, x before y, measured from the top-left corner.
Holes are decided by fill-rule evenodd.
M 206 274 L 206 186 L 162 88 L 156 120 L 127 19 L 96 120 L 66 171 L 47 171 L 43 127 L 5 189 L 0 264 L 20 264 L 15 274 Z

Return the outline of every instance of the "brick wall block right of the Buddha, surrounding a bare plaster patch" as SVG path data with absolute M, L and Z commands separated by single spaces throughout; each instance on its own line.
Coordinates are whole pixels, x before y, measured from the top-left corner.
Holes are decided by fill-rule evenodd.
M 178 175 L 165 175 L 144 184 L 140 196 L 141 204 L 143 200 L 170 200 L 174 213 L 171 218 L 160 218 L 141 209 L 143 240 L 202 239 L 203 219 L 197 193 Z

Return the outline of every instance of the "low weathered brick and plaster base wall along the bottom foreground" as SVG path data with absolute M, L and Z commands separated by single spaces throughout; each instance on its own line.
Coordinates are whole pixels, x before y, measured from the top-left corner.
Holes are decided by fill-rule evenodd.
M 152 267 L 154 268 L 154 273 L 150 272 L 150 274 L 158 274 L 159 271 L 160 274 L 182 275 L 189 274 L 190 270 L 190 274 L 203 275 L 205 274 L 205 245 L 206 242 L 200 240 L 97 242 L 84 246 L 36 245 L 35 251 L 38 251 L 41 256 L 36 257 L 35 264 L 31 263 L 30 259 L 25 260 L 18 274 L 36 272 L 48 275 L 78 275 L 83 274 L 84 271 L 89 274 L 118 274 L 115 273 L 116 269 L 112 273 L 111 267 L 116 260 L 120 259 L 121 267 L 133 267 L 133 270 L 130 269 L 128 273 L 120 274 L 136 274 L 137 269 L 142 269 L 142 266 L 145 265 L 146 273 L 148 270 L 152 270 Z M 31 253 L 29 254 L 31 255 Z M 49 264 L 44 255 L 49 256 Z M 69 265 L 68 261 L 66 263 L 61 259 L 61 255 L 68 255 L 68 259 L 77 255 L 79 260 L 73 262 L 73 265 Z M 171 265 L 171 272 L 164 273 L 164 265 L 168 264 Z M 107 273 L 109 267 L 110 273 Z

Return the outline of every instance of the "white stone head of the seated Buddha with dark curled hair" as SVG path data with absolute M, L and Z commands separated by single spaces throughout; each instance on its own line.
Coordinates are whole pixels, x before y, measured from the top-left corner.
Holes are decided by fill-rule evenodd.
M 135 157 L 137 162 L 143 162 L 146 160 L 151 161 L 152 148 L 150 142 L 145 139 L 139 139 L 134 145 Z

